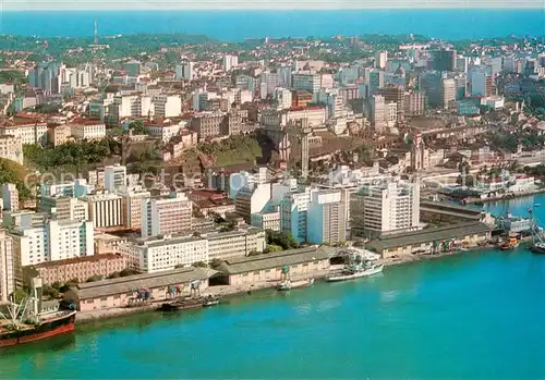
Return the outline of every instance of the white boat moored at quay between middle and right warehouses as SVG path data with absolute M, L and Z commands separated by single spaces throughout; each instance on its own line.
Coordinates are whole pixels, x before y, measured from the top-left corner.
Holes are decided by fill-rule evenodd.
M 350 249 L 348 253 L 349 265 L 340 272 L 326 275 L 326 281 L 338 282 L 378 274 L 384 265 L 378 262 L 378 255 L 368 250 Z

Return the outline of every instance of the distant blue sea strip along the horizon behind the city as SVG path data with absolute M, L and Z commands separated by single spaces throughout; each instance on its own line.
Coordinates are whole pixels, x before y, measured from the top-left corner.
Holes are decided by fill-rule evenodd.
M 492 2 L 493 3 L 493 2 Z M 338 34 L 422 34 L 434 38 L 542 36 L 543 10 L 322 11 L 34 11 L 2 12 L 0 33 L 93 36 L 135 33 L 204 34 L 223 40 L 255 37 L 330 37 Z

